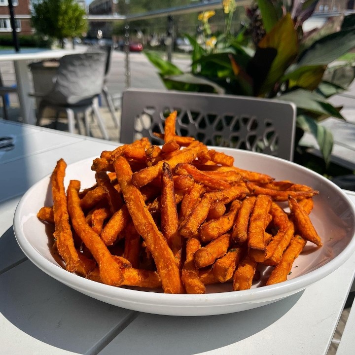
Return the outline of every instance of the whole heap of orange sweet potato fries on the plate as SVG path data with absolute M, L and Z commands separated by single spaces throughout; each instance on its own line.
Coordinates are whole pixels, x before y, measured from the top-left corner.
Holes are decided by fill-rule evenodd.
M 161 147 L 142 138 L 103 151 L 90 188 L 71 180 L 66 191 L 67 164 L 57 162 L 53 206 L 37 216 L 54 224 L 66 270 L 165 293 L 205 293 L 225 282 L 249 289 L 265 266 L 267 285 L 287 280 L 307 241 L 322 245 L 309 218 L 318 191 L 234 167 L 233 157 L 177 136 L 176 117 L 157 135 Z

